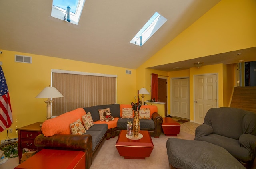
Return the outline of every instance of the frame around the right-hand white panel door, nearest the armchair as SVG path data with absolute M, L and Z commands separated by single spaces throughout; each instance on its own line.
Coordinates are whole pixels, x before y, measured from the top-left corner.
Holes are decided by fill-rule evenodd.
M 193 75 L 193 113 L 194 113 L 194 120 L 196 118 L 196 111 L 195 111 L 195 77 L 196 76 L 205 76 L 205 75 L 216 75 L 216 98 L 217 98 L 217 104 L 216 107 L 219 107 L 219 78 L 218 78 L 218 73 L 205 73 L 205 74 L 198 74 L 198 75 Z

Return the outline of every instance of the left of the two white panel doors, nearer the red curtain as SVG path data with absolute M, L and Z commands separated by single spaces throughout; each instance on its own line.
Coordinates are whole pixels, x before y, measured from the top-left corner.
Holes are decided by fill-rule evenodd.
M 172 116 L 190 119 L 189 79 L 172 79 Z

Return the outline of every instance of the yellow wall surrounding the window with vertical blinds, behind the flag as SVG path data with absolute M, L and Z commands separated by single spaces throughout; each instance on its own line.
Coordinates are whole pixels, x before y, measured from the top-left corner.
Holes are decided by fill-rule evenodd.
M 16 128 L 43 122 L 46 120 L 46 104 L 44 100 L 35 98 L 46 86 L 51 84 L 51 69 L 82 71 L 117 75 L 117 102 L 130 104 L 136 95 L 136 70 L 131 75 L 125 68 L 72 61 L 55 57 L 47 57 L 15 51 L 1 50 L 2 69 L 6 77 L 13 114 L 13 133 L 10 138 L 17 138 Z M 32 57 L 32 64 L 15 62 L 15 55 Z M 6 139 L 6 130 L 0 133 L 0 140 Z

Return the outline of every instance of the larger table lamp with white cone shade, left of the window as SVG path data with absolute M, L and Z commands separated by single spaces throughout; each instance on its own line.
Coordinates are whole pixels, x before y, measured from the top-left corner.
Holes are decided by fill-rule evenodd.
M 52 114 L 52 102 L 51 98 L 64 97 L 55 87 L 46 87 L 42 90 L 36 98 L 48 98 L 48 100 L 44 101 L 47 104 L 47 116 L 46 118 L 51 118 Z

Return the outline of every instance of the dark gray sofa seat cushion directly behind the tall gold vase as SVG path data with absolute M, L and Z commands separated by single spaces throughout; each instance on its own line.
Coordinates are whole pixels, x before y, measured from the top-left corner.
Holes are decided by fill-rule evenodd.
M 133 118 L 119 118 L 117 128 L 127 128 L 127 120 L 133 122 Z M 140 128 L 154 130 L 155 123 L 152 119 L 140 119 Z

